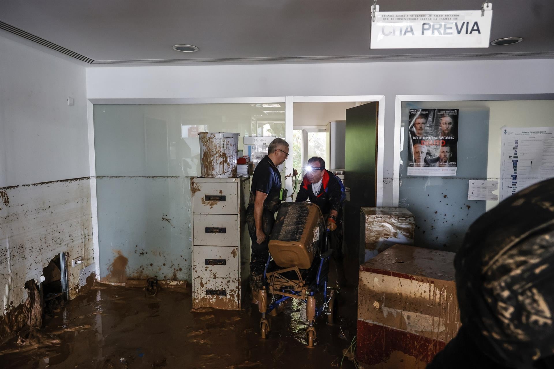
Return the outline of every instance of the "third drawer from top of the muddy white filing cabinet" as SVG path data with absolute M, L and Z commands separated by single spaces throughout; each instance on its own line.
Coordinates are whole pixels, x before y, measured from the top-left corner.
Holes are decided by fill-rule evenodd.
M 238 278 L 238 247 L 202 246 L 192 248 L 192 276 Z

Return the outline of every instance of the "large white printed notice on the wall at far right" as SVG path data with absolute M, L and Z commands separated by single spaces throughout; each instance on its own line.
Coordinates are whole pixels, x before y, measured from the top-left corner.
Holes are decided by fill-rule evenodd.
M 554 127 L 502 128 L 500 201 L 554 177 Z

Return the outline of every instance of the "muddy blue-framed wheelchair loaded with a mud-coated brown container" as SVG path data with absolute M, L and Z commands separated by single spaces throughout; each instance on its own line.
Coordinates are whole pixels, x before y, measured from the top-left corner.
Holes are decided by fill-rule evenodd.
M 314 345 L 316 318 L 323 316 L 327 323 L 333 323 L 337 290 L 327 287 L 332 253 L 328 246 L 329 232 L 319 206 L 310 202 L 281 204 L 269 241 L 263 288 L 258 295 L 262 338 L 268 337 L 270 331 L 267 315 L 289 299 L 306 304 L 308 346 Z

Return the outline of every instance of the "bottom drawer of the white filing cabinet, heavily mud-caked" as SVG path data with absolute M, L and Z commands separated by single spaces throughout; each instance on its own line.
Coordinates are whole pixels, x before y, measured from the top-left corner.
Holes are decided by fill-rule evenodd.
M 240 310 L 238 278 L 196 277 L 193 279 L 192 307 Z

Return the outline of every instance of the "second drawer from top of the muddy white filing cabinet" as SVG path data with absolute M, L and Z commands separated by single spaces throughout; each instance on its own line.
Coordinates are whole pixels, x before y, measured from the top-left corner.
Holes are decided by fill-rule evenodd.
M 238 215 L 194 214 L 194 246 L 238 246 Z

